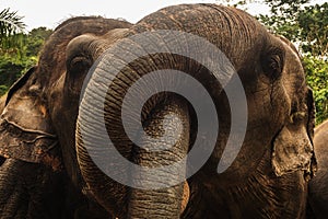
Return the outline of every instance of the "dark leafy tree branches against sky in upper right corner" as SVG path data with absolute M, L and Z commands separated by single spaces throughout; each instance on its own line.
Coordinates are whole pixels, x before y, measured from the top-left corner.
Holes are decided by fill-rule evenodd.
M 301 45 L 302 53 L 328 56 L 328 3 L 307 5 L 308 0 L 265 0 L 270 15 L 258 19 L 277 34 Z

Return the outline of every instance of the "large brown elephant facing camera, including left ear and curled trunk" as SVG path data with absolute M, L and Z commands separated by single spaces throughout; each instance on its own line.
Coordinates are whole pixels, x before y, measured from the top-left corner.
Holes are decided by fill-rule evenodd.
M 103 25 L 106 26 L 99 24 L 97 28 Z M 93 25 L 90 26 L 92 27 Z M 125 24 L 118 27 L 95 31 L 97 34 L 90 34 L 79 27 L 74 31 L 83 30 L 85 34 L 72 37 L 66 34 L 70 37 L 63 43 L 50 37 L 44 48 L 47 53 L 42 54 L 36 69 L 26 74 L 19 85 L 12 88 L 12 95 L 9 95 L 5 106 L 12 112 L 11 115 L 2 115 L 0 139 L 5 139 L 5 142 L 21 140 L 21 151 L 36 149 L 36 146 L 26 149 L 24 136 L 17 137 L 13 134 L 14 128 L 20 126 L 9 127 L 10 124 L 7 123 L 9 118 L 14 119 L 15 124 L 24 119 L 14 114 L 14 108 L 17 107 L 14 103 L 19 100 L 20 104 L 28 106 L 26 110 L 30 112 L 26 114 L 30 119 L 33 118 L 33 124 L 28 124 L 33 125 L 34 129 L 50 135 L 40 139 L 45 141 L 37 147 L 42 151 L 40 154 L 30 153 L 33 158 L 22 153 L 16 155 L 16 152 L 11 152 L 15 149 L 10 151 L 8 148 L 0 153 L 52 168 L 56 166 L 56 158 L 59 158 L 73 185 L 89 199 L 102 206 L 108 217 L 304 218 L 307 181 L 313 176 L 315 169 L 312 143 L 314 103 L 298 54 L 246 12 L 218 4 L 173 5 L 151 13 L 133 25 Z M 169 35 L 171 42 L 165 42 L 165 38 L 141 38 L 148 48 L 141 47 L 130 38 L 143 33 L 160 33 L 156 31 L 163 30 L 173 31 L 168 33 L 187 33 L 184 36 L 198 36 L 220 49 L 233 65 L 244 88 L 248 112 L 245 138 L 237 157 L 222 173 L 218 173 L 218 164 L 224 154 L 233 122 L 230 117 L 232 112 L 227 92 L 224 90 L 226 87 L 218 83 L 207 67 L 179 54 L 154 53 L 137 57 L 131 62 L 124 61 L 124 57 L 129 54 L 138 54 L 138 49 L 147 51 L 148 48 L 159 46 L 165 48 L 171 43 L 175 43 L 174 49 L 184 49 L 185 42 Z M 57 32 L 59 35 L 60 28 Z M 186 38 L 188 42 L 191 39 Z M 130 45 L 127 46 L 126 42 Z M 58 51 L 54 45 L 66 49 Z M 189 49 L 198 50 L 198 55 L 202 56 L 203 48 L 198 46 Z M 125 53 L 110 54 L 115 48 L 121 48 Z M 207 60 L 209 59 L 210 57 Z M 105 78 L 104 81 L 94 81 L 93 77 L 87 77 L 92 71 L 105 71 L 113 65 L 113 60 L 125 64 L 125 68 L 114 77 L 112 84 L 107 84 Z M 96 165 L 83 136 L 98 135 L 97 129 L 93 128 L 94 124 L 89 122 L 92 122 L 93 113 L 104 110 L 106 130 L 117 151 L 129 162 L 151 169 L 168 165 L 187 157 L 197 139 L 198 120 L 190 103 L 180 95 L 161 92 L 150 97 L 139 115 L 141 115 L 142 129 L 149 136 L 161 136 L 165 124 L 165 130 L 171 134 L 164 138 L 165 141 L 152 142 L 148 138 L 140 138 L 138 141 L 151 148 L 175 142 L 174 147 L 163 153 L 151 153 L 141 146 L 137 147 L 127 137 L 121 122 L 124 96 L 132 83 L 148 72 L 163 73 L 165 69 L 190 74 L 210 93 L 220 122 L 213 151 L 200 170 L 190 177 L 184 178 L 180 169 L 176 174 L 168 175 L 168 178 L 173 180 L 183 178 L 173 186 L 142 189 L 125 185 L 106 175 Z M 113 74 L 108 72 L 107 76 L 110 78 Z M 92 84 L 107 90 L 101 108 L 92 103 L 92 100 L 99 95 L 92 93 Z M 86 91 L 94 97 L 87 99 Z M 21 102 L 22 94 L 27 95 L 25 102 L 33 101 L 34 104 Z M 81 116 L 83 108 L 89 113 L 86 115 L 90 119 Z M 164 119 L 167 115 L 173 116 L 173 119 Z M 142 130 L 132 129 L 137 138 L 140 131 Z M 55 147 L 60 151 L 59 155 L 56 151 L 47 150 L 54 140 L 59 141 L 60 147 Z M 203 139 L 201 145 L 204 151 L 210 147 L 207 140 Z M 96 148 L 99 158 L 106 152 L 103 150 L 102 146 Z M 118 175 L 133 177 L 138 174 L 133 169 L 116 168 L 115 160 L 110 162 L 107 163 L 107 169 L 113 169 Z M 167 173 L 160 172 L 161 174 Z M 154 183 L 148 183 L 148 177 L 143 178 L 142 174 L 140 177 L 145 184 Z

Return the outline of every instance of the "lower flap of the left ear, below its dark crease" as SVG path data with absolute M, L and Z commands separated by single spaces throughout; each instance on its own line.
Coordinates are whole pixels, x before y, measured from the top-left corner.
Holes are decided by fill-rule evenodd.
M 59 141 L 55 134 L 34 130 L 0 118 L 0 155 L 61 169 Z

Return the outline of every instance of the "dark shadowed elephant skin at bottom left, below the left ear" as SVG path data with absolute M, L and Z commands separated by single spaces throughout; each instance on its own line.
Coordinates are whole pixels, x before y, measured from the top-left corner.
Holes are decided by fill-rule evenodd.
M 101 219 L 107 212 L 86 200 L 65 172 L 7 159 L 0 166 L 0 218 Z

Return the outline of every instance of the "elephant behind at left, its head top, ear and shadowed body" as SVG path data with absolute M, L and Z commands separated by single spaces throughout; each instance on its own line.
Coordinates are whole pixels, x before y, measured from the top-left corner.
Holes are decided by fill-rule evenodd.
M 63 150 L 42 93 L 47 87 L 55 88 L 62 77 L 70 39 L 86 33 L 103 35 L 129 25 L 101 16 L 65 21 L 46 42 L 37 66 L 1 97 L 0 155 L 5 158 L 0 166 L 1 218 L 104 218 L 105 210 L 85 197 L 71 180 L 78 173 L 70 174 L 72 177 L 68 174 L 67 170 L 78 169 L 67 169 L 62 163 Z M 40 81 L 39 77 L 47 80 Z M 52 81 L 48 80 L 50 77 L 55 77 Z M 72 154 L 66 165 L 70 166 L 74 159 Z

